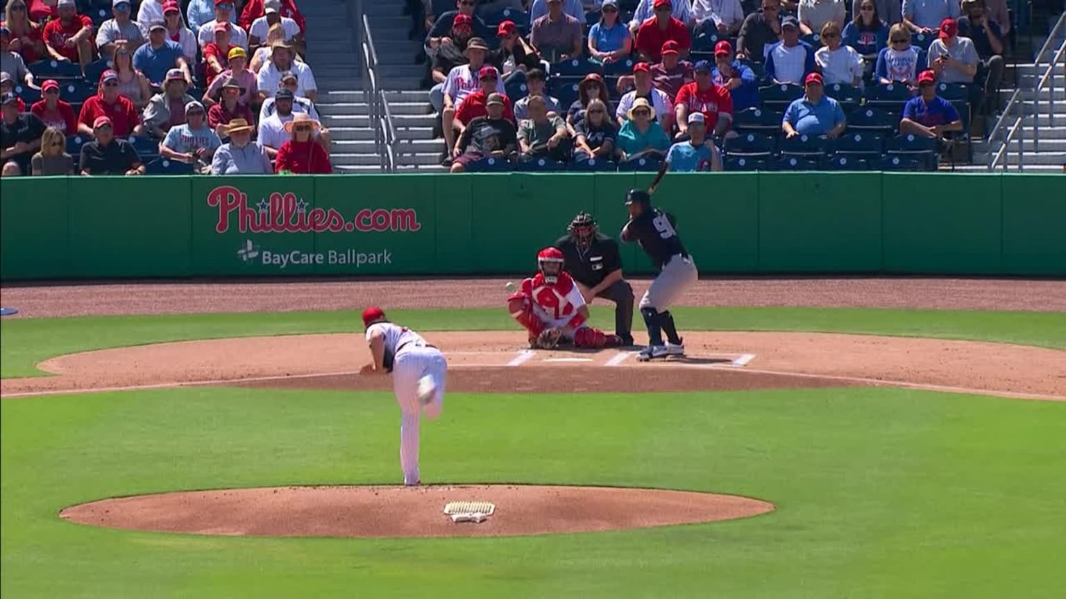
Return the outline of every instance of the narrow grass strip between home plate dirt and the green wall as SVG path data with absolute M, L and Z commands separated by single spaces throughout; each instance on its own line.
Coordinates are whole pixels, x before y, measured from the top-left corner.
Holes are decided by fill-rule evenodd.
M 852 308 L 677 308 L 688 330 L 810 330 L 1001 341 L 1066 349 L 1066 313 Z M 513 329 L 499 309 L 395 310 L 420 330 Z M 594 322 L 612 323 L 609 307 Z M 639 320 L 639 319 L 637 319 Z M 639 324 L 639 323 L 637 323 Z M 44 359 L 104 347 L 256 335 L 361 330 L 357 312 L 280 312 L 15 319 L 0 324 L 0 377 L 38 376 Z

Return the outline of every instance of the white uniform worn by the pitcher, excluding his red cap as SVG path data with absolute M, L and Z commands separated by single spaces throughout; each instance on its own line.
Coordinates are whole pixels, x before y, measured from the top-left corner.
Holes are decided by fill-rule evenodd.
M 385 365 L 392 365 L 392 392 L 403 414 L 400 424 L 400 466 L 403 468 L 403 480 L 405 485 L 415 485 L 420 481 L 420 416 L 440 416 L 445 404 L 448 362 L 439 350 L 431 346 L 414 330 L 390 322 L 376 322 L 367 327 L 367 341 L 377 331 L 385 337 Z M 423 376 L 429 376 L 435 387 L 432 399 L 425 404 L 418 398 L 418 382 Z

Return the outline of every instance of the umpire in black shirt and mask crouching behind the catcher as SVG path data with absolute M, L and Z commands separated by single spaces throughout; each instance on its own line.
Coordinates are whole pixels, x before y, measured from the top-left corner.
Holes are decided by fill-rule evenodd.
M 596 220 L 587 212 L 579 212 L 566 230 L 569 234 L 555 242 L 563 252 L 563 268 L 578 281 L 586 303 L 593 297 L 615 303 L 614 331 L 623 345 L 632 345 L 633 288 L 621 278 L 618 244 L 599 233 Z

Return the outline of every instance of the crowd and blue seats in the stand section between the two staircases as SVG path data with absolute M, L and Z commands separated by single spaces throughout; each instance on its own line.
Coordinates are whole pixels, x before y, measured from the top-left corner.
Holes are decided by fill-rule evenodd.
M 973 122 L 1000 110 L 1008 1 L 408 9 L 413 34 L 425 35 L 419 60 L 440 117 L 441 163 L 455 173 L 653 171 L 662 160 L 673 169 L 920 169 L 936 168 Z

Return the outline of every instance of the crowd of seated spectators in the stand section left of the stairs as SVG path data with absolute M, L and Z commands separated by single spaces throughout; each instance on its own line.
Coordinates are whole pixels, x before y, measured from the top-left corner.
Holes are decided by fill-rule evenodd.
M 7 0 L 0 20 L 4 177 L 333 172 L 295 0 Z

